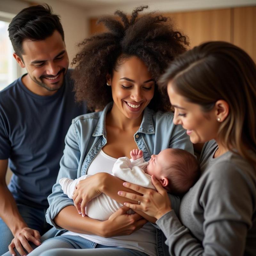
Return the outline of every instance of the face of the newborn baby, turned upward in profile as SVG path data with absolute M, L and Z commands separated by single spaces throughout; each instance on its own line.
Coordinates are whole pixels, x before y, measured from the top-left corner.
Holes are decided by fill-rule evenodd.
M 161 180 L 163 176 L 163 166 L 170 163 L 170 149 L 162 150 L 158 155 L 152 155 L 147 166 L 146 172 L 149 175 L 155 175 L 157 180 Z

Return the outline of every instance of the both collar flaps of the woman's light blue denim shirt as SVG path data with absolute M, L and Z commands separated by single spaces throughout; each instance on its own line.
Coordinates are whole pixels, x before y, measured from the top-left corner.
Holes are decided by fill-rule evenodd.
M 98 124 L 92 134 L 93 137 L 103 136 L 107 138 L 107 131 L 106 131 L 106 115 L 108 111 L 112 108 L 113 102 L 109 102 L 106 107 L 103 109 L 102 114 L 100 115 Z M 154 134 L 155 129 L 152 120 L 153 110 L 149 109 L 148 107 L 144 109 L 142 122 L 140 124 L 140 128 L 137 132 L 147 133 L 147 134 Z

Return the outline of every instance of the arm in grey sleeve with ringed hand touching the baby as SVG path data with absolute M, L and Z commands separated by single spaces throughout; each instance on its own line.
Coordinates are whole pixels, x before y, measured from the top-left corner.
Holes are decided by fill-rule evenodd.
M 141 200 L 140 205 L 128 203 L 128 207 L 143 210 L 158 219 L 156 224 L 167 238 L 166 244 L 169 246 L 170 254 L 244 255 L 247 232 L 252 226 L 253 201 L 256 196 L 255 192 L 253 193 L 255 187 L 253 189 L 252 183 L 246 180 L 241 170 L 237 170 L 235 164 L 215 166 L 205 179 L 203 187 L 199 188 L 202 192 L 195 201 L 199 201 L 200 204 L 196 207 L 203 210 L 202 230 L 198 230 L 198 225 L 193 229 L 193 223 L 189 228 L 191 232 L 201 233 L 202 242 L 181 224 L 174 211 L 170 211 L 164 191 L 157 183 L 157 180 L 153 180 L 158 192 L 152 194 L 147 194 L 144 188 L 129 183 L 126 187 L 140 192 L 143 196 L 122 193 L 127 198 L 135 197 L 136 200 Z M 195 206 L 192 204 L 193 207 Z M 191 213 L 187 215 L 188 218 L 192 217 Z M 193 221 L 193 218 L 190 219 Z

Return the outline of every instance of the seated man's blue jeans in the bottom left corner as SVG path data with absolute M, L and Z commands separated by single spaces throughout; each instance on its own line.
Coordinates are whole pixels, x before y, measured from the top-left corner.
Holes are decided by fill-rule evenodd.
M 17 207 L 20 212 L 20 215 L 22 216 L 23 220 L 27 223 L 28 227 L 39 231 L 41 236 L 50 228 L 52 228 L 52 226 L 48 224 L 45 220 L 46 209 L 37 209 L 24 204 L 17 204 Z M 57 229 L 53 228 L 47 236 L 41 237 L 41 242 L 50 237 L 53 237 L 56 233 L 54 232 L 55 230 L 57 231 Z M 0 218 L 0 255 L 9 251 L 8 245 L 11 244 L 12 239 L 13 235 L 11 230 Z M 9 256 L 10 253 L 8 252 L 7 255 Z

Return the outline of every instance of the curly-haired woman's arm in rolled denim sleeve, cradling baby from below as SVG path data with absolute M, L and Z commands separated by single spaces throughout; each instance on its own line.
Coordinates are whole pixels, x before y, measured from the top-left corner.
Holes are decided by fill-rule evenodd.
M 77 137 L 80 133 L 81 131 L 77 131 L 74 122 L 72 122 L 65 138 L 64 155 L 60 160 L 57 181 L 64 177 L 73 180 L 77 178 L 77 170 L 82 165 L 81 159 L 83 158 L 80 151 L 80 140 Z M 97 183 L 99 187 L 101 186 L 100 180 L 101 176 Z M 68 229 L 85 234 L 100 234 L 108 237 L 128 234 L 141 228 L 147 222 L 138 214 L 126 214 L 125 209 L 127 207 L 112 214 L 109 220 L 104 223 L 89 217 L 82 218 L 77 213 L 73 200 L 63 194 L 59 182 L 54 184 L 52 194 L 48 196 L 48 202 L 49 208 L 46 212 L 46 220 L 57 229 Z

